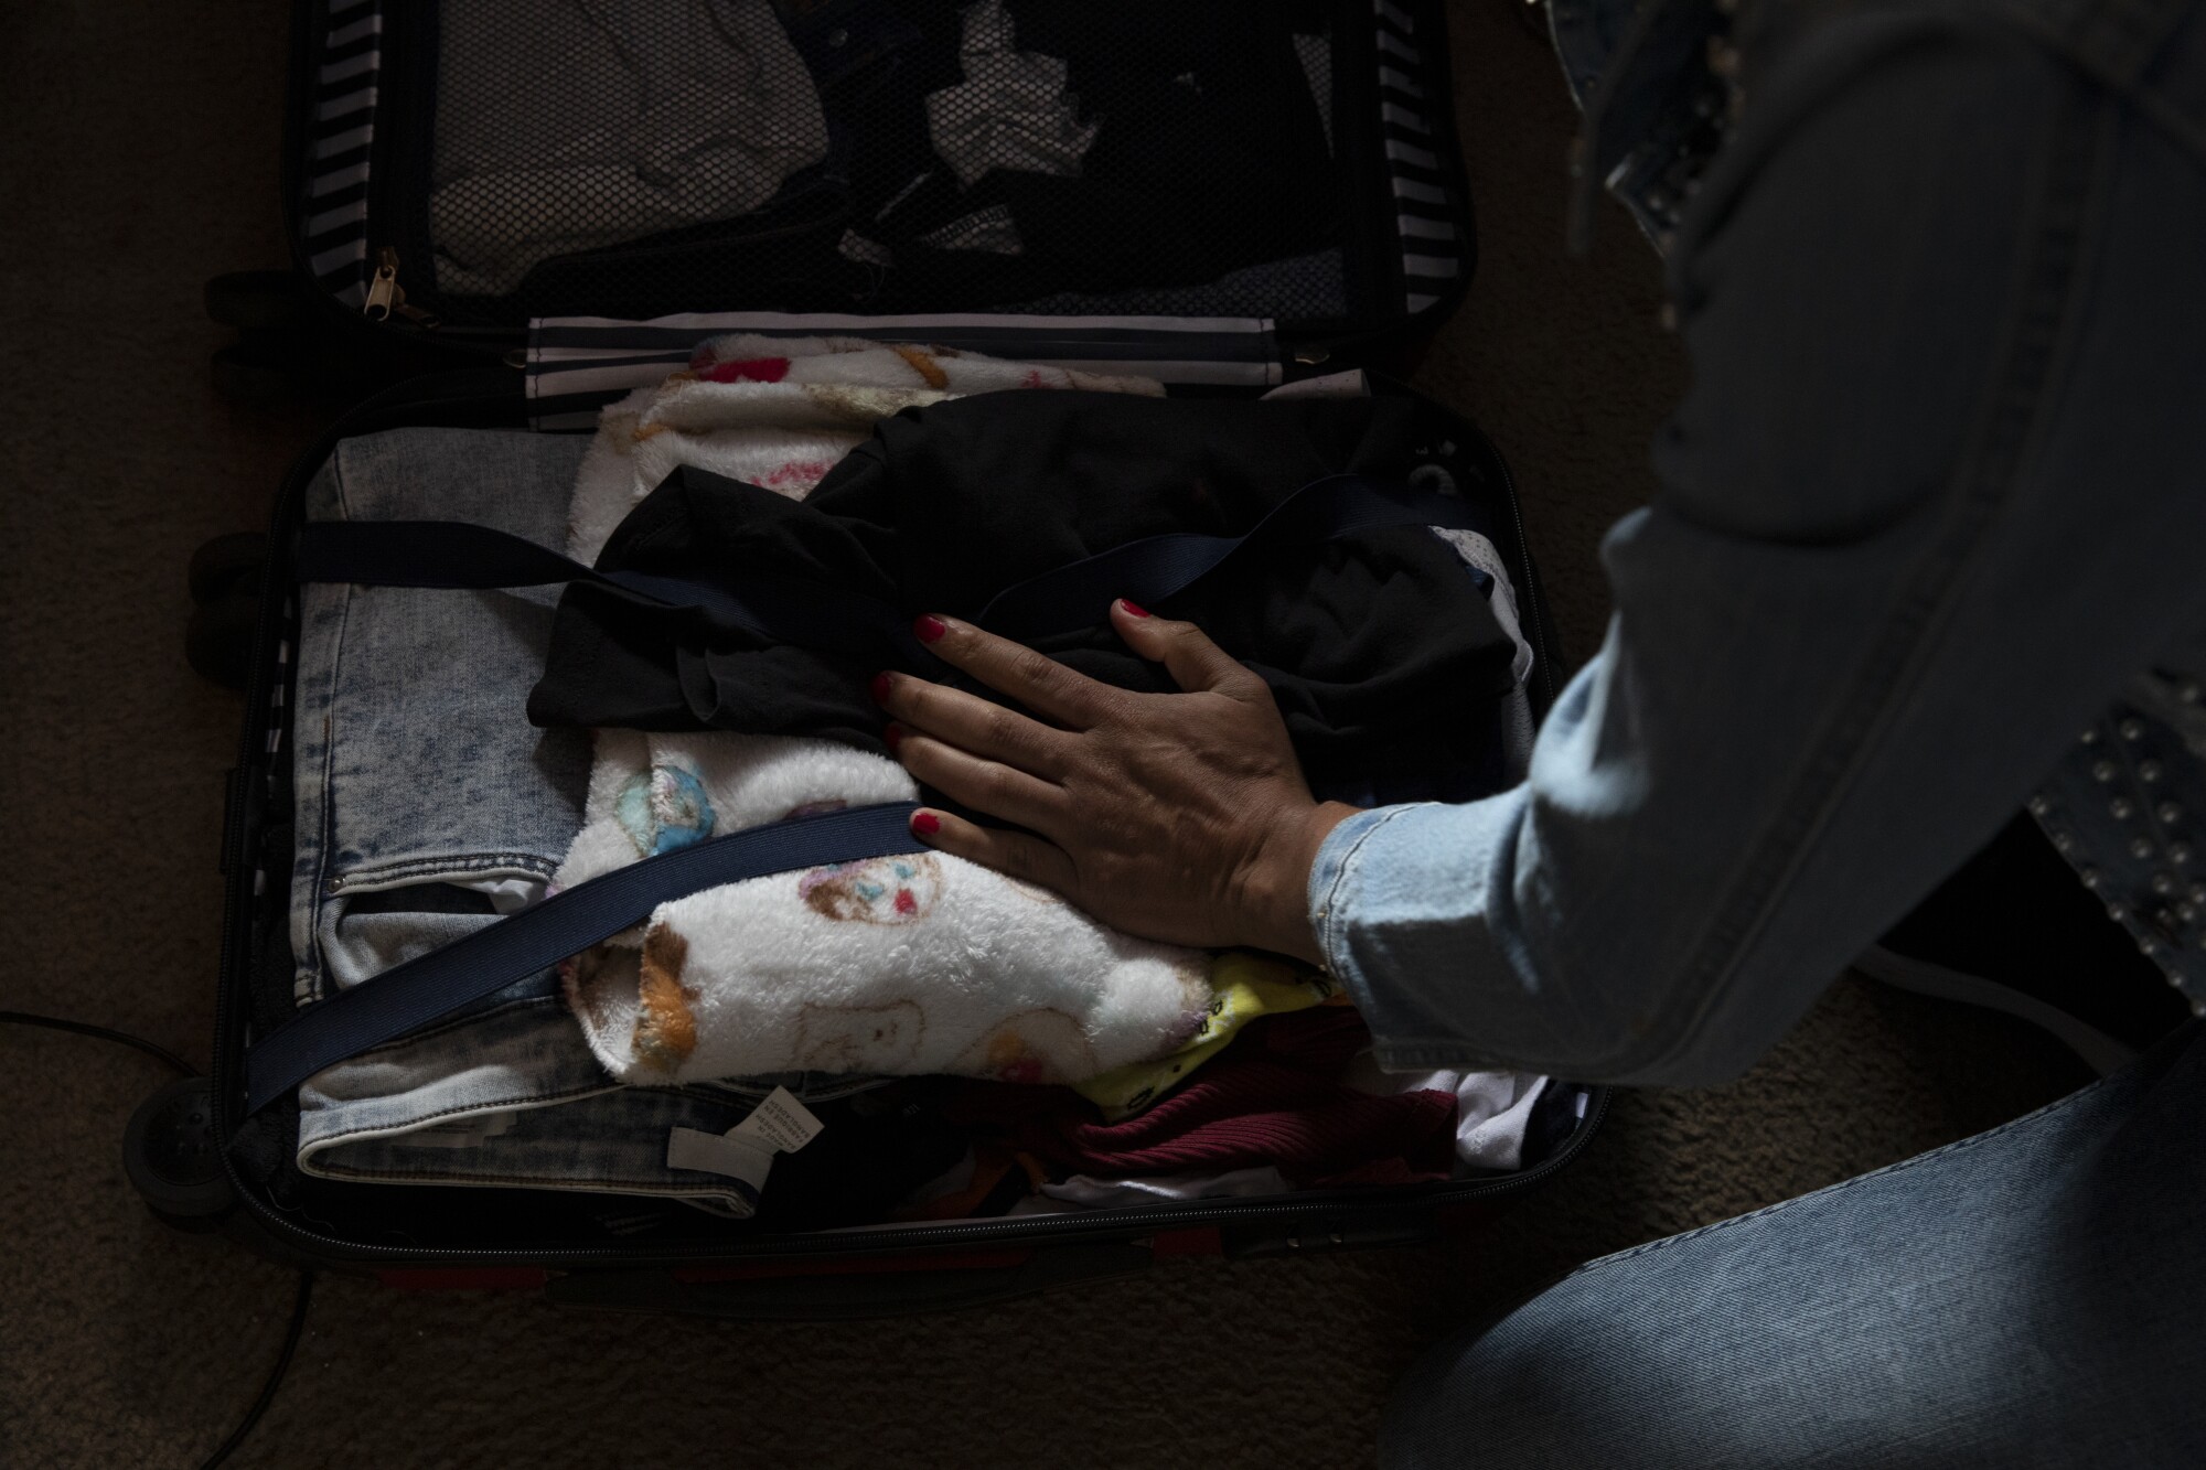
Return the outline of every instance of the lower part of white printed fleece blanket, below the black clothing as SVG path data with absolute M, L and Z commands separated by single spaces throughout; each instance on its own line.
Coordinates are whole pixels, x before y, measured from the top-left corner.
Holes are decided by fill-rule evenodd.
M 715 832 L 915 795 L 893 761 L 829 742 L 602 731 L 589 825 L 558 883 Z M 624 1082 L 1081 1082 L 1180 1046 L 1211 987 L 1200 951 L 1127 938 L 1046 890 L 922 852 L 660 905 L 642 931 L 576 960 L 567 998 Z

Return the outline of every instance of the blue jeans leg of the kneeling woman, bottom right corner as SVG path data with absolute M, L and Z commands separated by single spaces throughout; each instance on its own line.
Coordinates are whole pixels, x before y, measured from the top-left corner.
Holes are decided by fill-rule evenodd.
M 2206 1463 L 2206 1031 L 2030 1117 L 1595 1260 L 1441 1344 L 1427 1466 Z

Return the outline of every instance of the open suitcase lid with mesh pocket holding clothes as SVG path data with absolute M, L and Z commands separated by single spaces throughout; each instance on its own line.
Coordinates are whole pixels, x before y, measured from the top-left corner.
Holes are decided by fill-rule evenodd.
M 342 307 L 1414 333 L 1471 265 L 1425 0 L 307 0 L 287 201 Z

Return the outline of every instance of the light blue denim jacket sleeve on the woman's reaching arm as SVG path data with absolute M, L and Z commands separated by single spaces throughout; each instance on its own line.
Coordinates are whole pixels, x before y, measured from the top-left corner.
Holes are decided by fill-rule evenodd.
M 1771 68 L 1670 252 L 1692 391 L 1599 656 L 1524 784 L 1310 872 L 1381 1062 L 1730 1077 L 1990 837 L 2197 622 L 2202 258 L 2197 166 L 2027 44 Z

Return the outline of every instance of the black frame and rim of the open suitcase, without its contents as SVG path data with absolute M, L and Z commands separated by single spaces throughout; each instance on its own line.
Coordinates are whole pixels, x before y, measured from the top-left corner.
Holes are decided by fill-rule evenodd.
M 388 7 L 388 15 L 382 7 Z M 880 13 L 878 4 L 794 4 L 788 11 L 827 11 L 829 20 Z M 887 7 L 893 9 L 893 7 Z M 1438 196 L 1414 219 L 1396 214 L 1416 192 L 1399 192 L 1401 172 L 1379 174 L 1379 194 L 1392 243 L 1392 267 L 1357 267 L 1383 296 L 1332 318 L 1160 318 L 1103 313 L 964 311 L 964 313 L 761 313 L 754 300 L 728 298 L 719 276 L 666 283 L 666 291 L 695 291 L 710 311 L 651 322 L 554 320 L 523 322 L 516 302 L 452 302 L 435 289 L 408 287 L 401 300 L 388 276 L 377 280 L 379 221 L 397 207 L 388 190 L 362 188 L 331 203 L 315 192 L 329 168 L 382 170 L 384 148 L 397 150 L 404 128 L 390 106 L 408 90 L 384 51 L 406 26 L 426 24 L 430 7 L 395 0 L 338 0 L 309 4 L 300 18 L 300 86 L 293 117 L 291 170 L 293 225 L 302 265 L 329 296 L 329 311 L 362 320 L 364 305 L 413 305 L 415 313 L 382 311 L 382 331 L 428 340 L 439 353 L 474 355 L 474 366 L 393 386 L 346 413 L 289 475 L 269 530 L 260 569 L 251 656 L 245 662 L 247 720 L 238 766 L 229 775 L 223 837 L 227 909 L 223 925 L 221 998 L 210 1093 L 181 1095 L 165 1112 L 146 1110 L 135 1123 L 132 1176 L 148 1201 L 179 1225 L 221 1227 L 254 1249 L 300 1265 L 373 1271 L 397 1287 L 540 1287 L 558 1300 L 593 1307 L 690 1311 L 750 1318 L 836 1318 L 889 1311 L 931 1311 L 1002 1300 L 1052 1285 L 1118 1276 L 1165 1256 L 1284 1254 L 1350 1245 L 1392 1245 L 1432 1236 L 1493 1207 L 1564 1168 L 1586 1143 L 1606 1106 L 1602 1088 L 1553 1084 L 1527 1137 L 1524 1168 L 1482 1179 L 1425 1185 L 1313 1190 L 1260 1199 L 1213 1199 L 1141 1210 L 1090 1214 L 1006 1216 L 935 1225 L 763 1234 L 741 1223 L 690 1212 L 677 1203 L 640 1201 L 609 1214 L 602 1203 L 527 1190 L 459 1190 L 432 1185 L 368 1185 L 307 1179 L 274 1165 L 280 1123 L 247 1126 L 243 1059 L 251 1037 L 247 984 L 269 945 L 287 945 L 285 874 L 289 850 L 271 814 L 285 806 L 289 662 L 296 616 L 291 547 L 307 483 L 333 448 L 353 435 L 401 426 L 536 428 L 589 426 L 593 408 L 640 384 L 655 382 L 686 360 L 688 349 L 719 331 L 765 333 L 836 331 L 887 340 L 942 340 L 1026 360 L 1074 364 L 1132 364 L 1193 393 L 1251 393 L 1266 384 L 1335 371 L 1368 360 L 1370 351 L 1405 344 L 1460 298 L 1469 269 L 1469 212 L 1460 163 L 1447 119 L 1445 35 L 1436 4 L 1372 0 L 1337 4 L 1335 57 L 1368 64 L 1372 86 L 1348 86 L 1335 68 L 1335 117 L 1370 113 L 1372 159 L 1412 170 L 1407 183 Z M 382 24 L 386 22 L 388 24 Z M 816 18 L 814 18 L 816 20 Z M 371 24 L 373 22 L 373 24 Z M 792 24 L 792 31 L 799 26 Z M 832 38 L 829 29 L 823 35 Z M 419 44 L 419 33 L 417 44 Z M 847 38 L 847 31 L 845 31 Z M 366 60 L 362 60 L 366 57 Z M 368 86 L 340 90 L 368 77 Z M 1412 108 L 1414 104 L 1414 108 Z M 1354 137 L 1341 126 L 1341 137 Z M 373 135 L 375 141 L 362 141 Z M 1414 137 L 1418 143 L 1405 143 Z M 362 152 L 333 152 L 351 141 Z M 1407 152 L 1407 159 L 1392 155 Z M 353 207 L 357 205 L 357 210 Z M 1359 205 L 1366 207 L 1366 205 Z M 342 216 L 335 219 L 333 214 Z M 1370 216 L 1354 216 L 1372 223 Z M 1443 238 L 1441 227 L 1449 238 Z M 1414 234 L 1401 234 L 1414 230 Z M 1381 232 L 1383 234 L 1383 232 Z M 1434 243 L 1454 254 L 1423 254 Z M 675 254 L 695 249 L 677 241 Z M 1403 269 L 1399 256 L 1427 265 Z M 1414 276 L 1412 269 L 1447 276 Z M 587 283 L 585 283 L 587 285 Z M 536 283 L 543 287 L 543 283 Z M 529 287 L 529 289 L 536 289 Z M 1432 289 L 1425 289 L 1432 287 Z M 428 300 L 430 305 L 421 305 Z M 580 302 L 558 302 L 576 309 Z M 785 305 L 785 302 L 770 302 Z M 426 311 L 437 309 L 439 324 Z M 443 313 L 481 318 L 450 324 Z M 507 313 L 505 320 L 490 320 Z M 373 327 L 368 331 L 375 331 Z M 966 333 L 957 338 L 957 333 Z M 373 338 L 357 338 L 373 340 Z M 443 344 L 450 347 L 443 347 Z M 1326 364 L 1326 366 L 1317 366 Z M 521 369 L 521 371 L 516 371 Z M 1407 393 L 1383 380 L 1374 391 Z M 1445 413 L 1434 408 L 1436 413 Z M 1533 706 L 1544 713 L 1555 697 L 1553 631 L 1538 574 L 1524 543 L 1516 488 L 1485 435 L 1447 417 L 1449 470 L 1465 494 L 1496 510 L 1500 550 L 1513 569 L 1535 649 Z M 280 1119 L 280 1112 L 278 1112 Z M 296 1121 L 293 1121 L 296 1126 Z M 274 1141 L 271 1141 L 274 1139 Z M 201 1152 L 194 1152 L 194 1141 Z M 274 1154 L 274 1157 L 271 1157 Z M 196 1163 L 194 1163 L 196 1161 Z M 651 1218 L 646 1218 L 651 1216 Z

